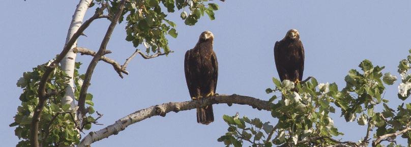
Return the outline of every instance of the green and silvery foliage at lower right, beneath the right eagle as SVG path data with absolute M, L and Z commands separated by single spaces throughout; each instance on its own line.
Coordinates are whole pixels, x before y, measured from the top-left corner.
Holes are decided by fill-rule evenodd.
M 348 72 L 344 78 L 346 85 L 341 90 L 336 83 L 318 83 L 315 78 L 296 85 L 288 80 L 281 83 L 273 78 L 275 87 L 266 92 L 273 94 L 270 99 L 274 103 L 271 115 L 278 119 L 278 123 L 263 123 L 258 118 L 250 120 L 247 116 L 224 115 L 223 119 L 229 127 L 218 141 L 236 147 L 242 146 L 244 142 L 249 142 L 251 146 L 368 146 L 379 136 L 404 130 L 411 126 L 411 103 L 405 103 L 411 92 L 411 50 L 409 52 L 410 55 L 401 60 L 398 66 L 401 75 L 398 98 L 404 103 L 395 108 L 387 105 L 388 98 L 392 97 L 384 97 L 384 93 L 385 86 L 394 84 L 397 77 L 389 72 L 383 74 L 384 67 L 373 66 L 370 61 L 364 60 L 359 65 L 360 70 L 351 69 Z M 383 108 L 382 111 L 376 111 L 377 107 Z M 335 113 L 336 109 L 340 109 L 346 122 L 356 121 L 358 125 L 374 131 L 369 136 L 364 132 L 358 142 L 332 139 L 344 135 L 334 126 L 329 115 Z M 411 143 L 411 131 L 398 137 L 406 138 Z M 388 146 L 402 146 L 394 143 L 395 138 L 385 140 L 391 142 Z M 379 142 L 372 145 L 384 146 Z

